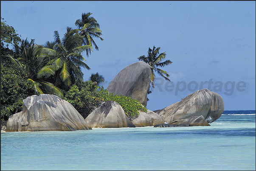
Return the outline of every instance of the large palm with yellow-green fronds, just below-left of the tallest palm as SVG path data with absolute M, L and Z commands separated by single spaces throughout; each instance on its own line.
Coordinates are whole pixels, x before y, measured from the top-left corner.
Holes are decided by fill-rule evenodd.
M 79 29 L 67 27 L 67 32 L 62 40 L 59 38 L 58 31 L 54 31 L 54 42 L 46 42 L 43 51 L 50 56 L 54 56 L 47 67 L 54 67 L 56 77 L 54 85 L 69 87 L 76 81 L 83 81 L 81 67 L 90 70 L 90 67 L 83 61 L 82 52 L 91 48 L 91 45 L 82 45 L 84 36 L 78 34 Z

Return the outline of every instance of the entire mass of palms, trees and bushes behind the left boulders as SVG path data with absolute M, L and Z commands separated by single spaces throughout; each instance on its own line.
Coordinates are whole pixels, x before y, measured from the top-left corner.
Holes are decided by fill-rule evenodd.
M 98 22 L 90 15 L 83 13 L 82 19 L 75 22 L 77 29 L 67 27 L 62 39 L 54 31 L 54 40 L 45 45 L 37 45 L 34 39 L 21 40 L 1 17 L 1 121 L 20 112 L 25 98 L 43 93 L 69 101 L 84 118 L 109 100 L 120 104 L 131 120 L 138 116 L 138 111 L 146 112 L 139 101 L 99 87 L 104 77 L 98 73 L 83 81 L 81 67 L 90 67 L 82 53 L 89 56 L 93 45 L 98 50 L 93 38 L 103 40 Z M 8 49 L 9 44 L 13 50 Z

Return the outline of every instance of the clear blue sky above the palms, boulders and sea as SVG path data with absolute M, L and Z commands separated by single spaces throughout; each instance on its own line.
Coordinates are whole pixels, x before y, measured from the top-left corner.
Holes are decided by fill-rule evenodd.
M 76 28 L 82 13 L 100 24 L 99 50 L 86 58 L 84 81 L 98 72 L 104 88 L 149 48 L 173 63 L 162 68 L 147 108 L 167 107 L 202 88 L 222 96 L 225 110 L 255 110 L 255 1 L 1 1 L 1 17 L 39 45 Z

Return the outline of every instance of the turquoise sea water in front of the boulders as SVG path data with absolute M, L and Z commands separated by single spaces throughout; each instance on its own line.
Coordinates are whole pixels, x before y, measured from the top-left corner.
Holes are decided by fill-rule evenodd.
M 255 110 L 211 126 L 1 133 L 3 170 L 256 170 Z

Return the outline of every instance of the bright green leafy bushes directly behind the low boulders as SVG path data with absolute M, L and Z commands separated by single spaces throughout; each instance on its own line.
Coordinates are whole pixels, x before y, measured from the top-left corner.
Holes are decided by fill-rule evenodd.
M 94 90 L 91 89 L 92 86 L 95 86 Z M 103 87 L 93 85 L 92 81 L 85 81 L 71 86 L 70 90 L 65 94 L 65 100 L 72 104 L 84 118 L 105 101 L 110 100 L 120 104 L 131 120 L 138 117 L 139 111 L 147 111 L 146 107 L 139 101 L 129 96 L 113 95 Z

